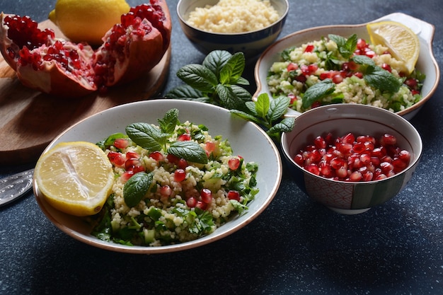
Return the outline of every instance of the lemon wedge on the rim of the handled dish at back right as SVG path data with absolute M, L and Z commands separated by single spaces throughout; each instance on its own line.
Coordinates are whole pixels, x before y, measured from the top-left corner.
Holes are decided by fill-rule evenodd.
M 417 35 L 407 26 L 395 21 L 368 23 L 367 30 L 374 45 L 384 45 L 399 61 L 405 64 L 406 74 L 412 73 L 420 54 Z

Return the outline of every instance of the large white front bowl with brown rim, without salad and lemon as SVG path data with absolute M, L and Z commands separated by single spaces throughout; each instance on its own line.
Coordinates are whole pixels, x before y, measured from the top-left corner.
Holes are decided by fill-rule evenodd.
M 158 125 L 157 119 L 172 108 L 179 110 L 179 120 L 181 122 L 189 120 L 196 124 L 206 125 L 210 134 L 214 136 L 220 134 L 224 139 L 229 139 L 235 154 L 241 154 L 245 161 L 258 163 L 257 183 L 260 192 L 248 204 L 249 209 L 246 214 L 234 216 L 226 224 L 216 229 L 214 233 L 187 243 L 161 247 L 108 243 L 91 236 L 91 227 L 81 218 L 59 212 L 45 202 L 34 178 L 35 197 L 47 218 L 64 233 L 88 245 L 117 252 L 142 254 L 167 253 L 212 243 L 238 231 L 253 221 L 270 204 L 280 186 L 282 178 L 280 154 L 272 139 L 263 132 L 263 129 L 251 122 L 234 117 L 229 110 L 224 108 L 195 101 L 164 99 L 120 105 L 99 112 L 70 127 L 54 139 L 45 151 L 62 141 L 90 141 L 96 143 L 115 132 L 125 132 L 125 127 L 134 122 L 149 122 Z M 251 149 L 251 146 L 260 146 L 260 149 Z

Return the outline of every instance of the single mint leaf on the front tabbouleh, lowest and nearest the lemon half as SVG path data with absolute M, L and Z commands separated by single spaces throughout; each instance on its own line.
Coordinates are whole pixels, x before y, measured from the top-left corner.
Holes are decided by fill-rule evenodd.
M 123 197 L 128 207 L 134 207 L 143 199 L 151 187 L 154 174 L 139 172 L 132 175 L 123 187 Z

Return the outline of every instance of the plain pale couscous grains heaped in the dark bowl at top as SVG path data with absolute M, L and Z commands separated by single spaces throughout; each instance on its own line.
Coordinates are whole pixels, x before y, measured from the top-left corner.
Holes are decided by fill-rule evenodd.
M 195 8 L 187 23 L 212 33 L 245 33 L 266 28 L 279 18 L 269 0 L 220 0 Z

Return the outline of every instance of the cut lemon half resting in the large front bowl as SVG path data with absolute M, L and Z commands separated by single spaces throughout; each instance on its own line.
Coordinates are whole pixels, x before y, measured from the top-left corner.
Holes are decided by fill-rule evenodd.
M 34 177 L 42 197 L 62 212 L 96 214 L 113 188 L 113 168 L 96 144 L 63 142 L 40 156 Z

